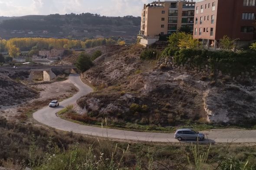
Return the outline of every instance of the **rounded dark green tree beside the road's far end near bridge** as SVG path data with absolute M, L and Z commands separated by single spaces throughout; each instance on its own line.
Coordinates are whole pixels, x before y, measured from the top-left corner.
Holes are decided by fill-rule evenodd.
M 81 53 L 75 63 L 76 68 L 79 69 L 81 72 L 85 72 L 86 70 L 90 69 L 92 66 L 92 61 L 90 59 L 89 54 Z

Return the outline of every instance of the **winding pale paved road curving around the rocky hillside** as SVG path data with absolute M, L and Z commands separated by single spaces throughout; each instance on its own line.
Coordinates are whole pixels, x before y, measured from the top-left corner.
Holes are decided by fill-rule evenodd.
M 71 82 L 79 88 L 79 92 L 72 98 L 66 99 L 60 102 L 60 106 L 56 108 L 45 107 L 33 114 L 35 120 L 43 123 L 47 126 L 55 129 L 81 133 L 87 135 L 94 135 L 100 137 L 109 137 L 114 139 L 127 139 L 137 141 L 148 141 L 148 142 L 178 142 L 174 139 L 174 134 L 165 133 L 151 133 L 151 132 L 131 132 L 117 129 L 105 129 L 92 126 L 84 126 L 76 123 L 63 120 L 56 116 L 55 113 L 62 110 L 64 107 L 70 104 L 74 104 L 77 99 L 92 92 L 92 88 L 81 82 L 79 75 L 71 74 L 69 76 Z M 204 143 L 214 142 L 256 142 L 256 130 L 237 130 L 237 129 L 215 129 L 206 133 L 208 140 L 204 140 Z

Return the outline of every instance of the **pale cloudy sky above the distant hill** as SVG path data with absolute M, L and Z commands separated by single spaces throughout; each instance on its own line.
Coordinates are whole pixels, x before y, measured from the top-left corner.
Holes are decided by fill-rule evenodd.
M 97 13 L 140 16 L 144 3 L 154 0 L 0 0 L 0 16 Z

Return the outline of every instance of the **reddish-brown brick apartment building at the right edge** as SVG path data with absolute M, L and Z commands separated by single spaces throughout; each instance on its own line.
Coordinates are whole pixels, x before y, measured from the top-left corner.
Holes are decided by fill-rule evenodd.
M 237 44 L 256 39 L 256 0 L 202 0 L 196 3 L 194 35 L 204 47 L 218 48 L 224 35 Z

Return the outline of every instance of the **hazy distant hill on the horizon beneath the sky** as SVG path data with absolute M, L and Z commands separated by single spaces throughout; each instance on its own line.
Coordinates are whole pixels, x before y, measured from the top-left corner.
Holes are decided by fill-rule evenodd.
M 141 17 L 108 17 L 92 13 L 0 17 L 0 37 L 123 37 L 134 41 Z M 30 33 L 29 33 L 30 32 Z

